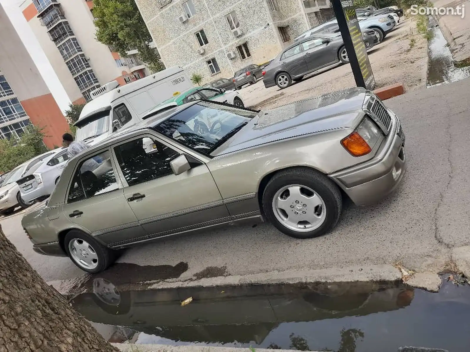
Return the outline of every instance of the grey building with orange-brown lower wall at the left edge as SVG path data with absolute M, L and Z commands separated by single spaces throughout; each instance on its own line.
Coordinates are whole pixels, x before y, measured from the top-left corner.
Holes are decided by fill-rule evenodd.
M 0 4 L 0 138 L 17 138 L 34 124 L 49 148 L 69 125 Z

